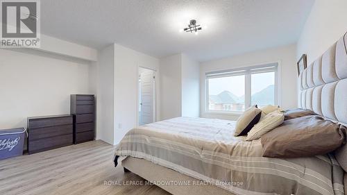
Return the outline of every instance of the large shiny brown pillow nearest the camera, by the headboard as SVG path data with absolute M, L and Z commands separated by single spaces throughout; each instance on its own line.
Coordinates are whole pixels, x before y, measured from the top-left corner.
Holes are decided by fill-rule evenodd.
M 319 115 L 287 120 L 261 137 L 262 156 L 298 158 L 330 153 L 344 142 L 344 132 L 345 126 Z

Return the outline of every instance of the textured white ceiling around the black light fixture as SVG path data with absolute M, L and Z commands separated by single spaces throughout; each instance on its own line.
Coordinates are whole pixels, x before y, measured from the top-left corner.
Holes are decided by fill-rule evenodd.
M 41 31 L 101 49 L 117 42 L 162 58 L 206 61 L 298 40 L 314 0 L 44 0 Z M 198 35 L 179 32 L 189 19 Z

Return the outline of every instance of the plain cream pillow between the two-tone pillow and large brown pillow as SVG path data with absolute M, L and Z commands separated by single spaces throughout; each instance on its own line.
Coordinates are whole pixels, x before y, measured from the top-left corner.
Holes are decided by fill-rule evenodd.
M 285 120 L 285 115 L 276 110 L 270 112 L 268 115 L 265 115 L 264 118 L 260 119 L 260 121 L 253 126 L 253 128 L 247 134 L 247 141 L 251 141 L 253 139 L 259 139 L 265 133 L 268 133 L 270 130 L 280 126 Z

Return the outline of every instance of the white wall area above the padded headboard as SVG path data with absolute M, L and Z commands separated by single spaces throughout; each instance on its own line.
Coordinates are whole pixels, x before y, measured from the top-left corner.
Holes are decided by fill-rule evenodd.
M 298 40 L 296 58 L 307 54 L 307 65 L 347 31 L 346 0 L 316 0 Z

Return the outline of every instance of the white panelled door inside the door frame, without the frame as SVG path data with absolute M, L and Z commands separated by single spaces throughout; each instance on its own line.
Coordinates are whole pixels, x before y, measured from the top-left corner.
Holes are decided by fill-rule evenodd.
M 155 73 L 150 69 L 142 69 L 139 74 L 139 125 L 154 122 Z

